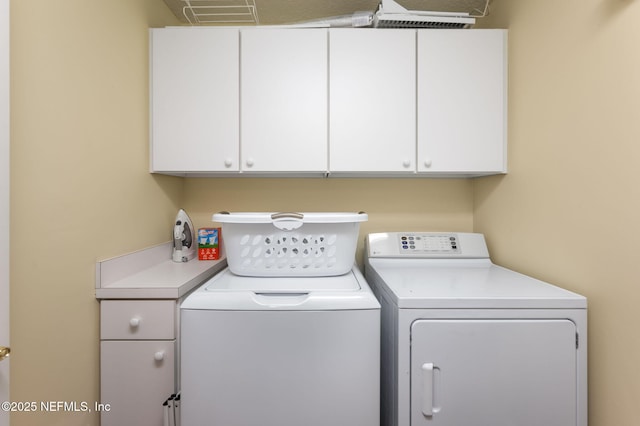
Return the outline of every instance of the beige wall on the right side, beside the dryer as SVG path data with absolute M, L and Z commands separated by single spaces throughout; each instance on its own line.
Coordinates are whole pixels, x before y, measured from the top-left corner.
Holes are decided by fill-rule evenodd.
M 640 2 L 494 0 L 509 170 L 475 185 L 494 260 L 589 298 L 591 426 L 638 424 Z

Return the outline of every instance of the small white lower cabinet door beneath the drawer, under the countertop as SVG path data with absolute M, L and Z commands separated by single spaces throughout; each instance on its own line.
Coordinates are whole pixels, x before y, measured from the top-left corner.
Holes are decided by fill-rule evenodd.
M 100 343 L 100 401 L 109 404 L 102 426 L 162 426 L 162 403 L 174 392 L 174 340 Z

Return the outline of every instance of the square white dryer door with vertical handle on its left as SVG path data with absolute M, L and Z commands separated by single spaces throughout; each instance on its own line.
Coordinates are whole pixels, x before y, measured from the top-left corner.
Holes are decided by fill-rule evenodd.
M 576 425 L 573 322 L 418 320 L 411 340 L 411 426 Z

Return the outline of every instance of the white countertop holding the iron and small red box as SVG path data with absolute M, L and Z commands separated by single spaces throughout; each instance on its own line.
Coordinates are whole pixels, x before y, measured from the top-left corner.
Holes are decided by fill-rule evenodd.
M 97 299 L 179 299 L 227 265 L 220 260 L 177 263 L 171 243 L 96 263 Z

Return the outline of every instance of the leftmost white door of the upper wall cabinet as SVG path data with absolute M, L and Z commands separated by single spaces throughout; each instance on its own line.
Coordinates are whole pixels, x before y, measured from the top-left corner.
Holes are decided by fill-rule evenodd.
M 151 171 L 239 170 L 239 34 L 151 30 Z

